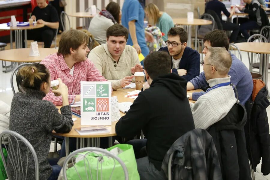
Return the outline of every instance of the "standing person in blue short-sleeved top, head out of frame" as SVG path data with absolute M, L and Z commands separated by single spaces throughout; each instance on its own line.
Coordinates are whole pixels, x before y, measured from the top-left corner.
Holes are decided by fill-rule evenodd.
M 143 28 L 144 10 L 139 0 L 125 0 L 122 7 L 122 25 L 128 29 L 127 44 L 134 46 L 137 53 L 142 53 L 144 57 L 149 54 L 146 45 L 147 41 L 153 41 L 154 37 Z M 143 64 L 143 61 L 141 61 Z

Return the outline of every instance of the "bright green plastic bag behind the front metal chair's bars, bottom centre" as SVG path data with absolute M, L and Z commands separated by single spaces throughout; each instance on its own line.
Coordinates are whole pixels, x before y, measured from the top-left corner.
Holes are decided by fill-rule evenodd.
M 128 169 L 128 178 L 130 180 L 137 180 L 137 179 L 139 180 L 140 176 L 139 176 L 139 173 L 137 170 L 137 163 L 136 163 L 136 159 L 135 159 L 134 150 L 133 150 L 132 145 L 118 144 L 118 145 L 115 145 L 113 147 L 108 148 L 107 150 L 110 151 L 111 149 L 114 149 L 116 147 L 123 150 L 123 152 L 120 153 L 118 155 L 118 157 L 125 163 L 125 165 Z M 87 152 L 83 152 L 83 153 L 79 153 L 79 154 L 84 155 L 86 153 Z M 103 156 L 102 163 L 101 162 L 98 163 L 97 157 L 98 157 L 98 155 L 93 153 L 93 152 L 86 155 L 86 157 L 85 157 L 86 166 L 84 165 L 83 160 L 77 162 L 74 165 L 74 167 L 71 167 L 67 170 L 67 179 L 69 179 L 69 180 L 80 179 L 76 170 L 78 171 L 81 179 L 87 179 L 87 175 L 88 175 L 89 179 L 91 179 L 91 177 L 93 179 L 96 179 L 97 165 L 98 165 L 98 179 L 101 180 L 101 164 L 102 164 L 102 179 L 110 179 L 112 171 L 113 171 L 113 174 L 112 174 L 111 179 L 117 179 L 117 180 L 125 179 L 124 170 L 122 169 L 122 166 L 119 164 L 118 161 L 114 160 L 113 158 L 108 159 L 108 157 Z M 88 160 L 88 161 L 86 161 L 86 160 Z M 87 165 L 88 162 L 89 162 L 90 166 Z M 115 167 L 114 167 L 114 164 L 115 164 Z M 76 167 L 76 170 L 75 170 L 75 167 Z M 89 167 L 91 168 L 91 173 L 90 173 Z M 113 167 L 114 167 L 114 170 L 113 170 Z M 86 172 L 88 174 L 86 174 Z

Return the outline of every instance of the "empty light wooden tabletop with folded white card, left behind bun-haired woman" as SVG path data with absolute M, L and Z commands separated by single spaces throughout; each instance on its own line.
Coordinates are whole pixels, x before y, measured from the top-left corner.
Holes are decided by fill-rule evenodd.
M 0 60 L 12 62 L 39 62 L 47 55 L 57 52 L 55 48 L 38 48 L 40 56 L 29 56 L 30 48 L 8 49 L 0 51 Z

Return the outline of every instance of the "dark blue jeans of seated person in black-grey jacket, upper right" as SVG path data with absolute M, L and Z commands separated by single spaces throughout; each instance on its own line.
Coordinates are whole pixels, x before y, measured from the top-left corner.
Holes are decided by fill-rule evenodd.
M 236 18 L 234 18 L 232 21 L 236 22 Z M 250 35 L 247 33 L 247 30 L 260 29 L 260 26 L 256 21 L 250 21 L 244 17 L 238 17 L 238 23 L 240 24 L 240 33 L 242 33 L 246 39 L 250 37 Z

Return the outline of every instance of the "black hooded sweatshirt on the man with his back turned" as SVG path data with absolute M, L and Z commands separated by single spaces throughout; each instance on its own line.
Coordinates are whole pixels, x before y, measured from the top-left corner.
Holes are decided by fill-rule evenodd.
M 133 137 L 143 129 L 149 161 L 158 170 L 174 141 L 195 128 L 186 86 L 187 81 L 175 73 L 159 76 L 116 123 L 120 137 Z

